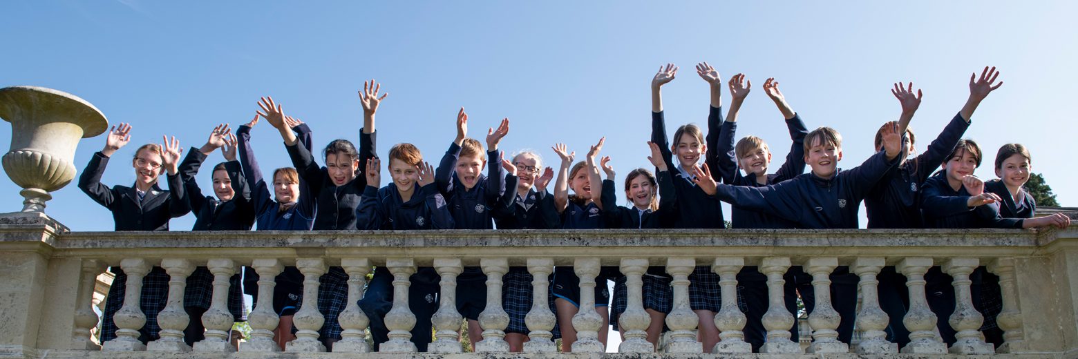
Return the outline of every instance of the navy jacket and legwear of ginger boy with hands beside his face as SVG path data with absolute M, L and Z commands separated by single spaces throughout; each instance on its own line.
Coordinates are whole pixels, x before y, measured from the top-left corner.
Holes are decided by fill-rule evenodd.
M 445 198 L 438 193 L 433 184 L 419 187 L 414 184 L 412 198 L 404 202 L 397 190 L 396 183 L 389 183 L 381 190 L 368 185 L 363 191 L 363 199 L 356 209 L 359 230 L 451 230 L 454 227 L 453 216 L 450 215 Z M 438 310 L 438 292 L 441 289 L 441 276 L 432 267 L 419 267 L 410 278 L 409 308 L 415 315 L 415 327 L 412 328 L 412 343 L 419 351 L 427 351 L 430 344 L 430 318 Z M 386 328 L 385 316 L 392 308 L 393 276 L 384 266 L 374 270 L 374 277 L 367 286 L 363 299 L 359 301 L 360 309 L 371 320 L 371 336 L 374 339 L 374 349 L 389 340 L 389 329 Z

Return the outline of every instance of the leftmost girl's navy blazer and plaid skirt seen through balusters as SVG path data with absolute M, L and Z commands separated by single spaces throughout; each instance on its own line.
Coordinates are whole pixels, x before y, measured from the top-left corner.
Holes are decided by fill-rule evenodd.
M 109 156 L 95 152 L 82 176 L 79 176 L 79 189 L 112 212 L 115 231 L 168 231 L 169 219 L 191 211 L 179 175 L 166 175 L 169 191 L 162 190 L 157 183 L 147 192 L 138 191 L 134 185 L 113 185 L 110 189 L 101 184 L 101 175 L 108 164 Z M 101 317 L 102 343 L 116 337 L 116 326 L 112 318 L 123 306 L 127 287 L 127 275 L 123 268 L 110 267 L 109 271 L 115 277 L 109 288 Z M 157 314 L 165 308 L 167 295 L 168 274 L 160 266 L 154 266 L 142 279 L 140 293 L 139 307 L 147 317 L 146 326 L 139 329 L 139 341 L 143 344 L 160 339 Z

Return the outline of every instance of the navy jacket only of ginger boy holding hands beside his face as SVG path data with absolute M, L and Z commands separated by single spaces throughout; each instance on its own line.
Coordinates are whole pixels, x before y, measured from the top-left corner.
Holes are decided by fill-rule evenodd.
M 434 183 L 419 187 L 407 202 L 401 201 L 397 184 L 376 189 L 368 185 L 356 209 L 359 230 L 452 230 L 453 216 Z

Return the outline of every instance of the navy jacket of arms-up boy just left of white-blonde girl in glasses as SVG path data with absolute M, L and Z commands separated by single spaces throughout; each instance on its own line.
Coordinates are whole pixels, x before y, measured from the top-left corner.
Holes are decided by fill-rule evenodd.
M 450 215 L 458 230 L 493 230 L 494 217 L 505 216 L 513 204 L 515 191 L 506 191 L 506 175 L 501 168 L 498 151 L 487 151 L 487 175 L 479 175 L 479 181 L 471 190 L 465 189 L 457 178 L 457 158 L 460 147 L 450 143 L 442 162 L 434 170 L 438 192 L 450 204 Z

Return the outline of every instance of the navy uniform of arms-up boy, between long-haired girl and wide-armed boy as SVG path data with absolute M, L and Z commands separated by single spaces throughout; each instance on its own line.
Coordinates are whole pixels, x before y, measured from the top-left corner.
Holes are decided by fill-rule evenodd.
M 707 152 L 707 164 L 708 167 L 715 168 L 718 171 L 723 183 L 764 187 L 779 183 L 804 174 L 804 138 L 808 135 L 808 128 L 805 127 L 800 115 L 794 113 L 793 118 L 786 119 L 786 127 L 789 129 L 790 139 L 792 140 L 790 152 L 786 155 L 786 162 L 778 167 L 778 171 L 765 175 L 765 182 L 760 183 L 757 181 L 756 174 L 742 176 L 742 171 L 737 166 L 737 154 L 734 144 L 737 123 L 723 121 L 720 125 L 719 121 L 721 116 L 718 114 L 719 109 L 711 107 L 707 121 L 707 147 L 711 149 Z M 713 134 L 718 135 L 713 136 Z M 797 227 L 791 221 L 768 212 L 748 210 L 740 206 L 731 206 L 730 224 L 734 229 Z M 787 280 L 784 286 L 789 288 L 786 291 L 793 296 L 794 302 L 797 295 L 793 293 L 794 289 L 800 289 L 802 295 L 814 293 L 811 285 L 812 277 L 805 274 L 801 266 L 791 267 L 787 273 L 787 277 L 790 280 Z M 748 320 L 744 329 L 745 341 L 752 345 L 754 350 L 759 350 L 763 346 L 768 334 L 762 322 L 762 317 L 768 312 L 768 276 L 760 273 L 759 268 L 755 265 L 743 267 L 737 273 L 737 294 L 738 299 L 744 299 L 740 300 L 737 305 L 745 309 L 744 312 Z M 796 305 L 787 309 L 797 313 Z M 796 330 L 791 332 L 796 332 Z M 792 333 L 792 335 L 793 340 L 798 339 L 797 333 Z

